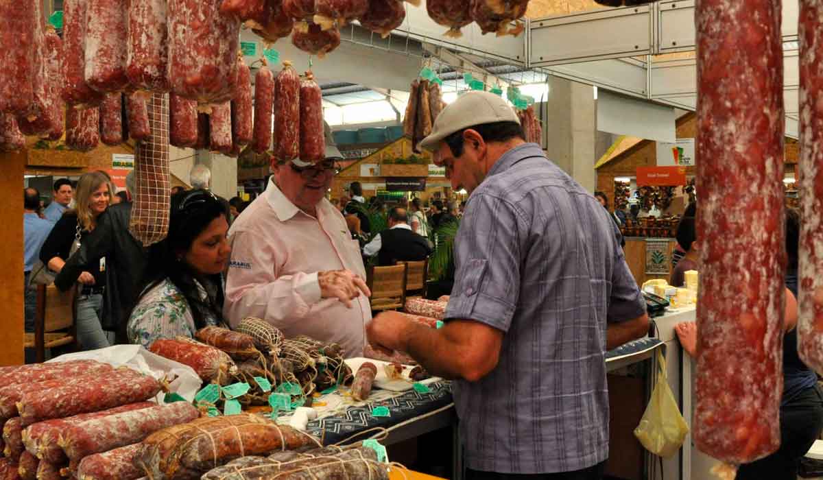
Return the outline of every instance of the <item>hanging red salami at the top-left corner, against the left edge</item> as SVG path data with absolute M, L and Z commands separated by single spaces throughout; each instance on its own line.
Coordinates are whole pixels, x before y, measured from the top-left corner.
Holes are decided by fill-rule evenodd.
M 23 114 L 35 99 L 35 2 L 0 2 L 0 112 Z

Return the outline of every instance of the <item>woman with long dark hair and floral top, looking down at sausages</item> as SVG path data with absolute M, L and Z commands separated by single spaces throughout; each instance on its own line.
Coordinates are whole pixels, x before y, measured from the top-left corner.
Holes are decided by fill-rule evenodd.
M 231 248 L 228 215 L 208 190 L 171 199 L 169 234 L 151 245 L 137 305 L 128 319 L 128 341 L 149 347 L 157 338 L 193 337 L 222 323 L 223 286 Z

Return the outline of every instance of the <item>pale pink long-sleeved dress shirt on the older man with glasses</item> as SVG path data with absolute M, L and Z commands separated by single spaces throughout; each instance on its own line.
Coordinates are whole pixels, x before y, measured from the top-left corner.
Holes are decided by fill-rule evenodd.
M 321 299 L 317 274 L 347 269 L 365 279 L 363 259 L 346 221 L 328 200 L 317 218 L 295 207 L 273 180 L 229 231 L 231 261 L 223 314 L 234 327 L 248 316 L 265 319 L 286 338 L 308 335 L 339 343 L 346 357 L 361 357 L 369 299 L 351 309 Z

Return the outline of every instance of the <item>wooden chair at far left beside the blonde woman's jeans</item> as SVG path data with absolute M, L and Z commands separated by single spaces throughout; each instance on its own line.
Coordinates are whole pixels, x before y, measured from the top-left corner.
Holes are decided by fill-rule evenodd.
M 46 348 L 77 347 L 77 286 L 60 291 L 54 285 L 37 286 L 35 333 L 26 333 L 26 348 L 34 348 L 38 362 L 45 361 Z

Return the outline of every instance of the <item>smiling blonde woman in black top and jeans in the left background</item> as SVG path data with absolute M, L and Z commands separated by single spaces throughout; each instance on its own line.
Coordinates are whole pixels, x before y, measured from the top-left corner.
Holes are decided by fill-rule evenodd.
M 97 219 L 109 207 L 109 180 L 100 172 L 83 174 L 77 181 L 77 207 L 67 210 L 54 225 L 40 249 L 40 260 L 55 273 L 60 273 L 66 261 L 97 227 Z M 82 287 L 77 296 L 77 339 L 83 349 L 108 347 L 114 341 L 103 330 L 100 316 L 105 294 L 105 257 L 88 259 L 82 266 L 77 282 Z

